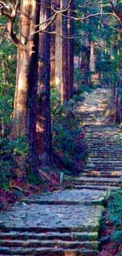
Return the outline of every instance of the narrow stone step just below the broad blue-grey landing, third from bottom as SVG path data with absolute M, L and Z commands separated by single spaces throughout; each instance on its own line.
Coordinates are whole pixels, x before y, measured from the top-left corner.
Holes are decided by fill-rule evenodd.
M 98 240 L 98 232 L 46 232 L 46 233 L 35 233 L 35 232 L 1 232 L 1 240 L 4 239 L 39 239 L 42 240 L 66 240 L 66 241 L 94 241 Z

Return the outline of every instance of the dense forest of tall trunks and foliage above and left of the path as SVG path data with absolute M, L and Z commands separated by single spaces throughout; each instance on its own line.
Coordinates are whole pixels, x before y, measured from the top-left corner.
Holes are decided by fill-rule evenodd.
M 75 174 L 83 93 L 112 87 L 105 118 L 122 120 L 122 2 L 1 1 L 0 13 L 0 184 Z

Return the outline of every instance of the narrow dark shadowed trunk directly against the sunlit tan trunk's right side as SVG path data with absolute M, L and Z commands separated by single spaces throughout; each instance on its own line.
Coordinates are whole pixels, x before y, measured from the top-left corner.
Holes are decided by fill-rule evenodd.
M 35 24 L 39 24 L 40 5 L 36 0 L 31 0 L 30 35 L 35 32 Z M 28 41 L 31 61 L 28 72 L 28 141 L 29 160 L 35 176 L 39 176 L 38 155 L 36 145 L 36 113 L 37 113 L 37 88 L 38 88 L 38 58 L 39 58 L 39 33 L 30 36 Z

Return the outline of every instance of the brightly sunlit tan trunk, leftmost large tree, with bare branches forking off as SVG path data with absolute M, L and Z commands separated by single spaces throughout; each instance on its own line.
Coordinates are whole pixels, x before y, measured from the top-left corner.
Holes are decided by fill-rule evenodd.
M 20 8 L 20 39 L 24 43 L 30 32 L 30 0 L 22 1 Z M 24 14 L 23 14 L 24 13 Z M 17 53 L 17 80 L 13 106 L 12 139 L 27 134 L 27 95 L 28 95 L 28 69 L 30 57 L 28 46 L 18 47 Z

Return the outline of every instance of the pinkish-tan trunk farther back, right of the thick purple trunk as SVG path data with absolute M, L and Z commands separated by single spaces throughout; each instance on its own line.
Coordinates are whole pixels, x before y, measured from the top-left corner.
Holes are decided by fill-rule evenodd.
M 60 9 L 65 9 L 67 0 L 58 2 Z M 68 12 L 65 12 L 67 15 Z M 55 40 L 55 83 L 57 90 L 61 92 L 61 102 L 64 104 L 69 99 L 68 90 L 68 18 L 57 14 Z

